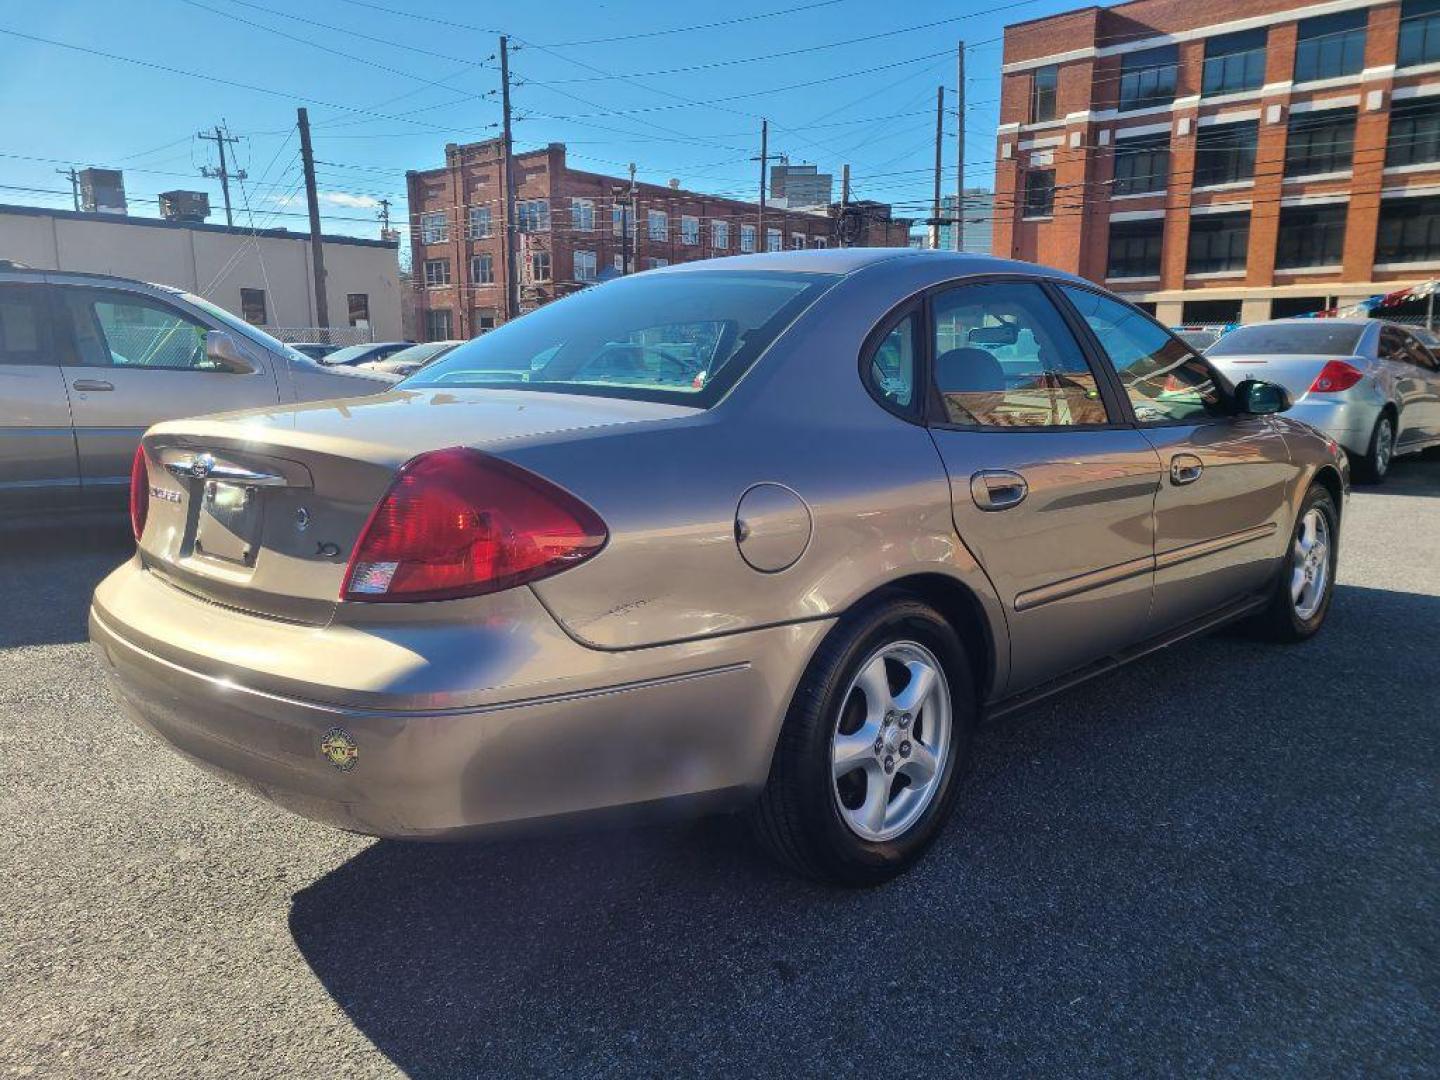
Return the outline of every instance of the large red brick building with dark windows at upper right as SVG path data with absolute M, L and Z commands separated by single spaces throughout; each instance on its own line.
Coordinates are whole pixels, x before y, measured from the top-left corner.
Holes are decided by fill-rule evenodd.
M 1135 0 L 1005 30 L 995 253 L 1165 323 L 1440 274 L 1440 0 Z

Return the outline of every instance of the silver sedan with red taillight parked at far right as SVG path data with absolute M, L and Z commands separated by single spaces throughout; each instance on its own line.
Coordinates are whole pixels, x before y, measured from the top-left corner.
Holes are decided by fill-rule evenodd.
M 1335 436 L 1358 480 L 1378 484 L 1395 455 L 1440 445 L 1440 361 L 1405 327 L 1282 318 L 1240 327 L 1205 356 L 1231 379 L 1284 386 L 1290 415 Z

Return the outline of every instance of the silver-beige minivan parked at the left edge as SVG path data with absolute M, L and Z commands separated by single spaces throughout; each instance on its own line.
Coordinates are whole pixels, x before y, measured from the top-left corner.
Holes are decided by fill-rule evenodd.
M 323 369 L 176 288 L 0 269 L 0 505 L 122 504 L 135 446 L 157 420 L 392 382 Z

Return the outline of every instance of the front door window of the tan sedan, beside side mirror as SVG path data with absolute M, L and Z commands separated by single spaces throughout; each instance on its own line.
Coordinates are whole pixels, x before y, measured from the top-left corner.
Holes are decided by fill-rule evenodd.
M 1220 374 L 1159 323 L 1099 292 L 1061 285 L 1094 331 L 1140 423 L 1230 416 Z

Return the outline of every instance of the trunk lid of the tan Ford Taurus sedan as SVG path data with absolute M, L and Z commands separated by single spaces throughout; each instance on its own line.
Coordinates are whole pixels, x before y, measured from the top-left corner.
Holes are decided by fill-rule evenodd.
M 694 409 L 534 390 L 392 390 L 151 428 L 147 567 L 216 603 L 292 622 L 334 616 L 350 553 L 418 454 L 575 438 Z

